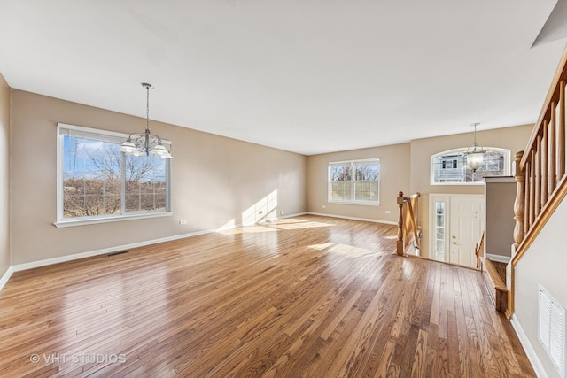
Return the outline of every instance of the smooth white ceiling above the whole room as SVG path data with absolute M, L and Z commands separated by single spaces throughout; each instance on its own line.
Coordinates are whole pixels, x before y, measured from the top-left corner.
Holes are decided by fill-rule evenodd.
M 153 120 L 352 150 L 534 122 L 566 42 L 531 48 L 555 3 L 0 0 L 0 73 L 140 117 L 148 81 Z

